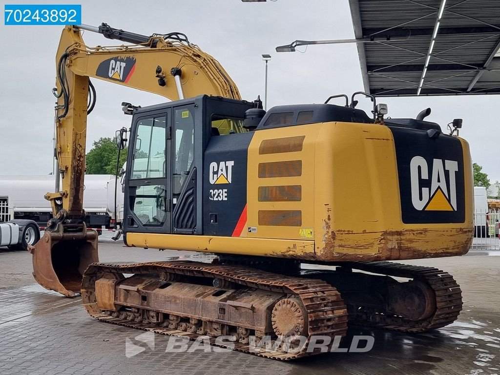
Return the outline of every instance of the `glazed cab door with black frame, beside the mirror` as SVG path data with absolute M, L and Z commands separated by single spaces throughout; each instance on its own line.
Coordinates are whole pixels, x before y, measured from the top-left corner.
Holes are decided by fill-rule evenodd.
M 170 109 L 165 108 L 133 118 L 125 188 L 126 231 L 171 232 L 169 114 Z

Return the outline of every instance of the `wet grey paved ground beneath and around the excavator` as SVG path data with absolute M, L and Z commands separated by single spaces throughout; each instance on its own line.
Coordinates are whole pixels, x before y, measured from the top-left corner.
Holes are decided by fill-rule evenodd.
M 196 255 L 124 248 L 105 239 L 99 246 L 101 261 Z M 418 335 L 350 328 L 341 346 L 348 346 L 353 335 L 372 335 L 373 349 L 279 362 L 202 348 L 165 352 L 169 338 L 158 334 L 152 349 L 137 338 L 142 331 L 97 322 L 86 315 L 80 298 L 67 299 L 34 284 L 27 252 L 0 248 L 0 374 L 500 374 L 500 257 L 470 254 L 407 261 L 453 274 L 464 300 L 453 324 Z M 126 357 L 126 342 L 144 350 Z

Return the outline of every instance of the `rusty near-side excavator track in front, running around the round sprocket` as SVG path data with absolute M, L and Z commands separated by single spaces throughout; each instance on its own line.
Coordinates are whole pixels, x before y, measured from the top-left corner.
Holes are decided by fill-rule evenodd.
M 258 340 L 265 332 L 248 329 L 248 326 L 229 327 L 231 332 L 237 332 L 235 340 L 230 345 L 231 348 L 262 357 L 290 360 L 306 355 L 313 355 L 319 351 L 307 351 L 307 344 L 312 335 L 343 336 L 347 330 L 346 306 L 341 299 L 340 293 L 325 281 L 283 276 L 245 266 L 218 265 L 195 261 L 92 263 L 83 275 L 81 289 L 83 305 L 92 317 L 108 323 L 153 331 L 160 334 L 187 337 L 191 340 L 195 340 L 200 336 L 206 337 L 207 332 L 204 330 L 205 323 L 220 324 L 216 323 L 214 316 L 193 317 L 191 314 L 182 315 L 176 311 L 161 311 L 160 314 L 168 317 L 168 320 L 151 322 L 146 318 L 147 314 L 151 313 L 151 310 L 147 308 L 132 308 L 126 311 L 119 311 L 120 307 L 116 310 L 100 308 L 97 302 L 98 298 L 96 298 L 96 294 L 98 294 L 98 291 L 96 292 L 96 282 L 112 283 L 114 282 L 113 280 L 123 280 L 122 274 L 134 274 L 134 276 L 141 274 L 162 275 L 163 279 L 169 280 L 173 280 L 175 277 L 182 277 L 183 281 L 192 282 L 194 284 L 193 287 L 196 286 L 196 283 L 201 278 L 205 280 L 206 278 L 212 278 L 223 280 L 221 282 L 224 285 L 237 284 L 238 287 L 246 288 L 245 290 L 267 291 L 277 293 L 276 295 L 282 294 L 282 298 L 278 297 L 278 299 L 281 299 L 274 304 L 272 310 L 271 320 L 274 336 L 272 337 L 271 344 L 274 344 L 279 337 L 286 337 L 286 334 L 288 334 L 287 337 L 293 337 L 293 335 L 297 334 L 305 336 L 305 343 L 300 342 L 300 344 L 296 344 L 293 347 L 292 343 L 290 346 L 274 345 L 272 349 L 268 347 L 256 349 L 255 347 L 250 347 L 248 334 L 253 333 L 256 340 Z M 166 274 L 170 276 L 165 277 Z M 102 279 L 104 280 L 99 281 Z M 175 283 L 175 281 L 171 282 Z M 130 286 L 127 287 L 131 288 Z M 112 290 L 114 290 L 114 286 L 112 286 Z M 258 303 L 257 301 L 254 303 Z M 240 308 L 248 308 L 248 306 L 245 307 L 244 303 L 238 304 L 232 302 L 232 304 Z M 152 313 L 156 312 L 153 311 Z M 277 316 L 280 314 L 281 316 Z M 289 323 L 287 321 L 293 317 L 297 318 L 297 322 L 292 323 L 292 325 L 294 324 L 294 328 L 283 334 L 280 330 L 283 330 L 283 327 L 288 329 Z M 200 325 L 200 321 L 202 321 L 202 325 Z M 220 326 L 218 327 L 220 328 Z M 289 332 L 292 332 L 292 334 L 290 335 Z M 221 342 L 217 342 L 217 336 L 213 334 L 213 331 L 208 334 L 210 344 L 228 347 Z

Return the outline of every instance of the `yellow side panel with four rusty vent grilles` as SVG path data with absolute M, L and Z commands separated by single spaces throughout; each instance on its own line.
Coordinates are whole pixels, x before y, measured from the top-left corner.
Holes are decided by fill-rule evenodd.
M 255 131 L 248 148 L 247 236 L 313 239 L 314 149 L 320 128 Z

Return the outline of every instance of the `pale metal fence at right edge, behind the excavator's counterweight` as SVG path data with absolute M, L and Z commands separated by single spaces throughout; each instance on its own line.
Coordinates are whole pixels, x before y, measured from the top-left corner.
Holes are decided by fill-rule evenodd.
M 474 213 L 474 240 L 472 249 L 500 250 L 498 239 L 498 223 L 500 222 L 500 209 L 490 209 L 489 212 L 476 211 Z

